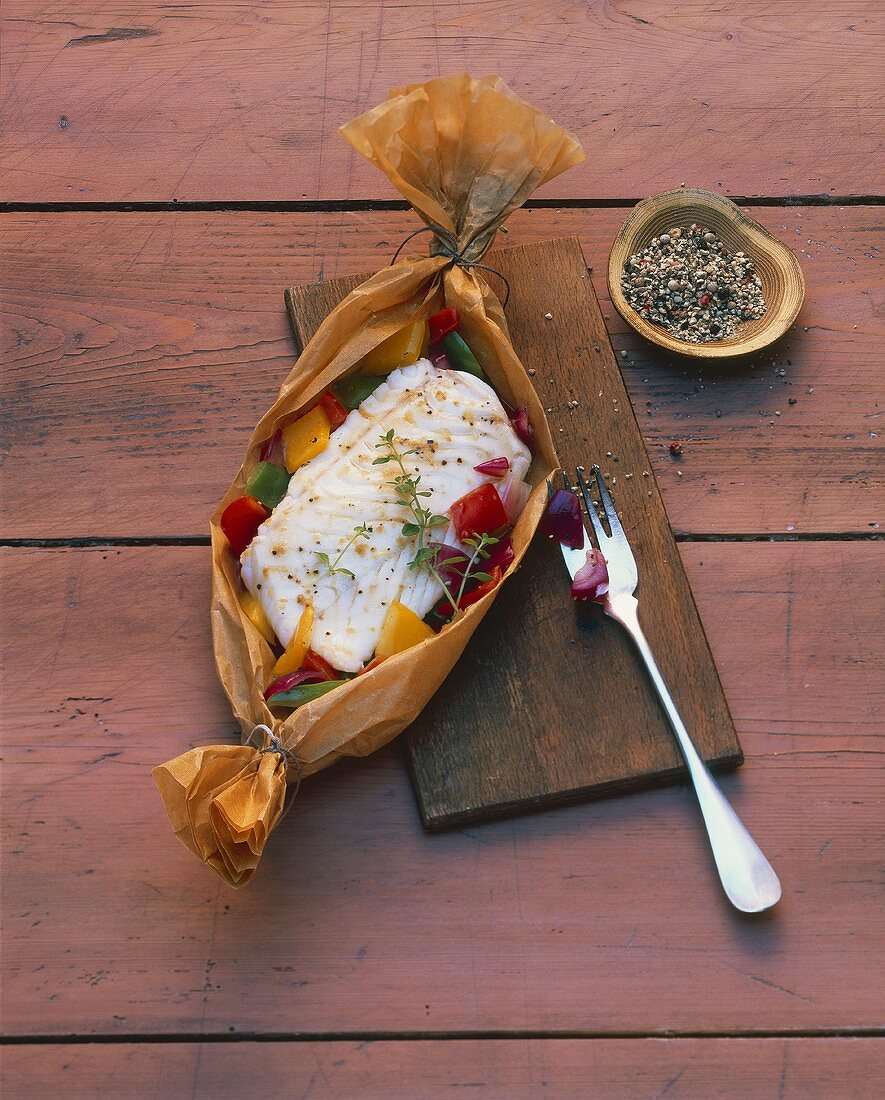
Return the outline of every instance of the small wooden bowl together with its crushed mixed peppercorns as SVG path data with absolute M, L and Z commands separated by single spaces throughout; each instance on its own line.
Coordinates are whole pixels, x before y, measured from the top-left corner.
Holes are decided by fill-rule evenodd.
M 611 248 L 608 286 L 637 332 L 698 359 L 767 346 L 805 297 L 789 249 L 729 199 L 696 188 L 635 207 Z

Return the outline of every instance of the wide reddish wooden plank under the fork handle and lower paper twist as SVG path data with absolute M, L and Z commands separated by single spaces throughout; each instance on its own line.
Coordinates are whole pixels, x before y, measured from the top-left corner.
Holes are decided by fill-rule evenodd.
M 762 920 L 685 790 L 428 836 L 397 746 L 306 782 L 230 892 L 148 774 L 234 739 L 208 550 L 2 551 L 4 1033 L 877 1026 L 882 547 L 681 551 L 784 882 Z

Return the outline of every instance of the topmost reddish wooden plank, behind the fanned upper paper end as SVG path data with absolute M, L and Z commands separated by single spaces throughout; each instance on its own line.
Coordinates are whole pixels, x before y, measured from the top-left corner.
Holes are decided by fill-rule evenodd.
M 3 6 L 0 198 L 394 197 L 336 129 L 391 87 L 499 73 L 587 163 L 545 197 L 881 194 L 881 11 L 550 0 Z

